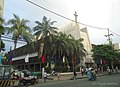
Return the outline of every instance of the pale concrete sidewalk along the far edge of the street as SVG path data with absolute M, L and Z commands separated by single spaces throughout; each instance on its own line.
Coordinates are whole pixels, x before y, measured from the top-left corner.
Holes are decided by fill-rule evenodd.
M 120 71 L 118 73 L 120 74 Z M 116 73 L 112 73 L 112 74 L 116 74 Z M 97 77 L 105 76 L 105 75 L 107 76 L 108 73 L 107 72 L 98 73 Z M 84 80 L 84 78 L 87 78 L 87 76 L 85 74 L 82 76 L 81 73 L 77 72 L 76 79 L 83 79 Z M 45 85 L 45 84 L 53 84 L 53 83 L 54 84 L 60 84 L 60 83 L 68 82 L 70 80 L 71 81 L 73 80 L 73 74 L 72 73 L 61 73 L 60 80 L 58 80 L 57 76 L 48 76 L 48 79 L 47 79 L 46 83 L 44 83 L 43 79 L 39 79 L 37 84 L 34 84 L 34 85 L 29 85 L 28 84 L 27 86 L 21 86 L 21 87 L 34 87 L 34 86 L 35 87 L 40 87 L 40 86 L 37 86 L 37 85 Z

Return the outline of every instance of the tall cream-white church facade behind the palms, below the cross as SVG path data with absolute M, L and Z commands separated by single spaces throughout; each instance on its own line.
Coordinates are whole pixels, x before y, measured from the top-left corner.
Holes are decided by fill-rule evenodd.
M 90 43 L 89 35 L 87 28 L 82 28 L 80 29 L 79 24 L 76 23 L 70 23 L 64 27 L 59 28 L 59 31 L 65 33 L 65 34 L 71 34 L 72 36 L 75 37 L 75 39 L 80 39 L 83 38 L 84 41 L 82 42 L 84 45 L 84 48 L 86 49 L 86 57 L 84 57 L 84 60 L 81 61 L 81 64 L 85 66 L 85 63 L 93 63 L 92 60 L 92 45 Z

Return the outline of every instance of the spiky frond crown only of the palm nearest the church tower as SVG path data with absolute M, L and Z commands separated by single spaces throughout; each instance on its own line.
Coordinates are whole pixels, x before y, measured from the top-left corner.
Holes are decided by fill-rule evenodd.
M 33 30 L 35 32 L 34 35 L 37 36 L 36 38 L 38 39 L 40 36 L 46 37 L 51 34 L 57 33 L 57 27 L 52 27 L 55 22 L 56 21 L 51 22 L 51 19 L 47 20 L 45 16 L 43 17 L 42 22 L 35 21 L 37 26 L 35 26 Z

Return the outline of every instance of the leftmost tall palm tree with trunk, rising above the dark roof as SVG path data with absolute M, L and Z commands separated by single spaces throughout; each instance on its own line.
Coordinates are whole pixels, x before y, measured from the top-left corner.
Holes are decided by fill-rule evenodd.
M 30 43 L 33 39 L 31 29 L 26 25 L 28 20 L 20 19 L 17 15 L 14 15 L 14 19 L 8 20 L 7 24 L 11 25 L 8 33 L 12 33 L 12 39 L 14 40 L 14 50 L 17 46 L 17 41 L 22 39 L 27 43 Z

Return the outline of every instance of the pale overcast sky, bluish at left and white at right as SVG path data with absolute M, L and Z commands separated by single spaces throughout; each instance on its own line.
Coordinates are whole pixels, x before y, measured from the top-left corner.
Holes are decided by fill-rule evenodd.
M 58 14 L 70 19 L 74 18 L 74 12 L 78 14 L 78 22 L 100 28 L 109 28 L 114 36 L 111 36 L 113 43 L 120 42 L 120 0 L 30 0 L 40 6 L 48 8 Z M 35 26 L 34 21 L 41 21 L 43 16 L 57 21 L 55 26 L 67 25 L 70 21 L 47 12 L 26 0 L 5 0 L 4 18 L 6 21 L 13 18 L 13 13 L 20 18 L 30 20 L 31 28 Z M 108 43 L 107 30 L 87 27 L 90 41 L 93 44 Z M 110 32 L 110 33 L 112 33 Z M 6 49 L 13 46 L 12 42 L 5 42 Z M 18 44 L 18 47 L 23 44 Z

